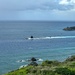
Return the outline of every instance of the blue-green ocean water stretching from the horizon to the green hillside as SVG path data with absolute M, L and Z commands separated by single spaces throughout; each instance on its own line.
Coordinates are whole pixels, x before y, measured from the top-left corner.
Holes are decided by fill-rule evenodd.
M 0 75 L 28 64 L 31 57 L 64 61 L 75 55 L 75 31 L 62 30 L 68 26 L 75 22 L 0 22 Z

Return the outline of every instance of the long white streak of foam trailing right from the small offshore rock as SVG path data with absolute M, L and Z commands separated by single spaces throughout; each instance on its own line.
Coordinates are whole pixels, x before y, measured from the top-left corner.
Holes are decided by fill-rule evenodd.
M 39 37 L 39 38 L 28 38 L 28 40 L 64 39 L 64 38 L 75 38 L 75 36 L 49 36 L 49 37 Z

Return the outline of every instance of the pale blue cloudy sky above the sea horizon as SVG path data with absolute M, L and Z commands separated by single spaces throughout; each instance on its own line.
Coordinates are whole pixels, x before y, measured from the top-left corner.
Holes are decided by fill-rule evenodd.
M 75 21 L 75 0 L 0 0 L 0 20 Z

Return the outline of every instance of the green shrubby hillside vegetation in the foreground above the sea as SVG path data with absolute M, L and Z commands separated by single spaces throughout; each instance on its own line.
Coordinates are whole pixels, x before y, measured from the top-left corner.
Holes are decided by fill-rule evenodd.
M 64 62 L 43 61 L 38 66 L 26 66 L 5 75 L 75 75 L 75 56 Z

